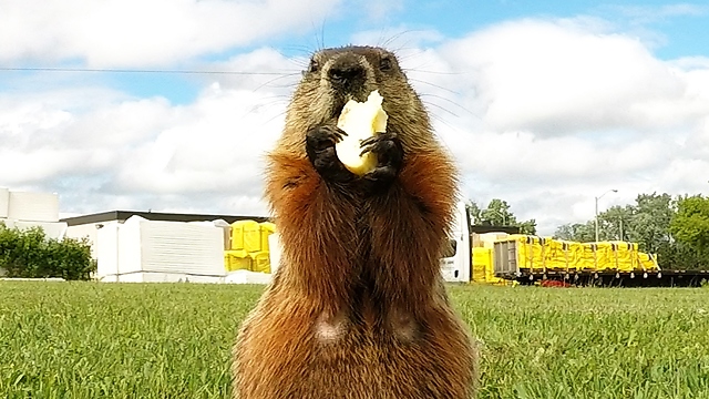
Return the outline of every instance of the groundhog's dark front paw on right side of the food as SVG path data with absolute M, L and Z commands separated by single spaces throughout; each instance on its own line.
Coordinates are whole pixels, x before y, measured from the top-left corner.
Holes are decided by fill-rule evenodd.
M 374 187 L 389 185 L 398 175 L 403 164 L 403 147 L 395 133 L 383 132 L 376 134 L 361 143 L 362 154 L 367 152 L 377 155 L 377 167 L 363 177 Z

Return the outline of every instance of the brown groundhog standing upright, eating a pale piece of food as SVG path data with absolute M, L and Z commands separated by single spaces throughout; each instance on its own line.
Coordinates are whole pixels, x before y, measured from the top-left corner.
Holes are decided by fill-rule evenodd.
M 379 90 L 386 132 L 354 175 L 335 144 L 350 99 Z M 471 398 L 476 349 L 448 300 L 440 255 L 458 170 L 397 57 L 317 51 L 268 154 L 266 198 L 282 244 L 234 346 L 234 398 Z

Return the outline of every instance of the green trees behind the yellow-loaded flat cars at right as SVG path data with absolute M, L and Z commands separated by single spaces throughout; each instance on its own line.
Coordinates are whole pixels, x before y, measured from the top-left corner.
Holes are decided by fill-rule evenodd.
M 518 226 L 522 234 L 536 234 L 535 219 L 518 222 L 502 200 L 486 208 L 467 204 L 473 225 Z M 553 237 L 594 242 L 595 218 L 568 223 Z M 667 193 L 639 194 L 635 203 L 612 206 L 598 213 L 598 239 L 638 243 L 641 252 L 658 255 L 662 268 L 709 269 L 709 196 Z

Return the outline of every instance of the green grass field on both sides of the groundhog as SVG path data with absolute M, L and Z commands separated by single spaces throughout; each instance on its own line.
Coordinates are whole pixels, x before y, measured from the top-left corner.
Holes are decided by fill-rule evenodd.
M 0 282 L 1 398 L 227 398 L 261 287 Z M 709 398 L 709 289 L 452 286 L 481 398 Z

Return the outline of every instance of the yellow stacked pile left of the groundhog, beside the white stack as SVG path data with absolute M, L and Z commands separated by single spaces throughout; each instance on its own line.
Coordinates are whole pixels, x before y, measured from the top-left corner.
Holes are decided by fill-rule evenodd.
M 232 223 L 229 245 L 224 252 L 226 270 L 270 273 L 268 236 L 275 231 L 276 225 L 270 222 L 237 221 Z

